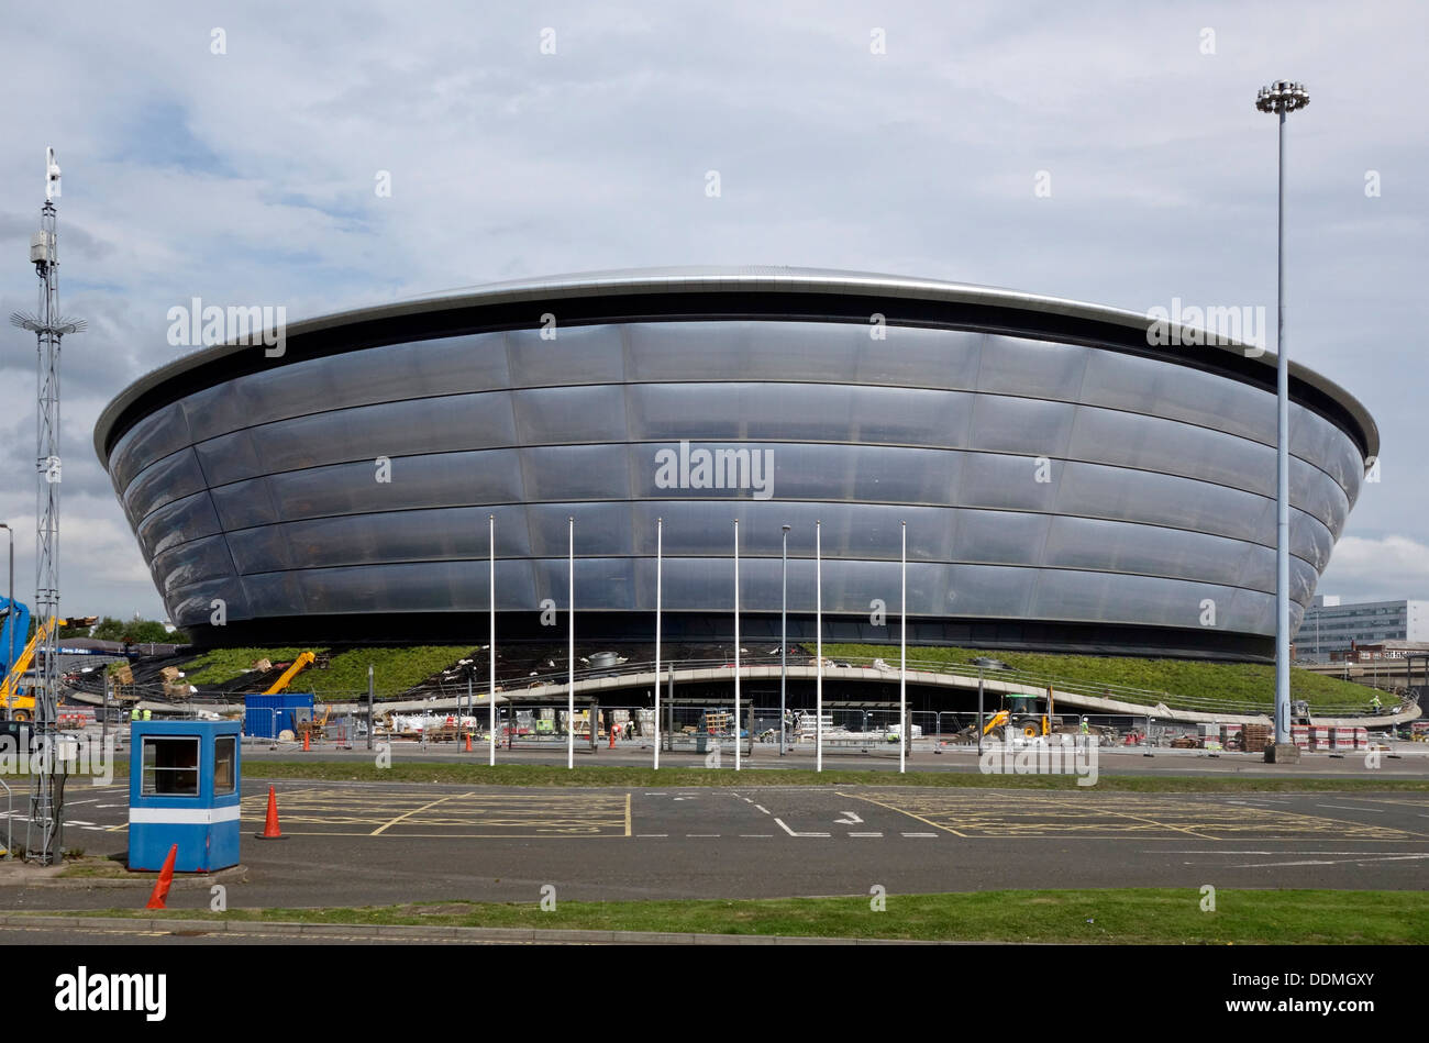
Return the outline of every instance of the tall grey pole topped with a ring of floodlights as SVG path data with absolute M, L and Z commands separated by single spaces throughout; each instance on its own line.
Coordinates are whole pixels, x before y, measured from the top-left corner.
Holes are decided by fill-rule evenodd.
M 1290 356 L 1285 346 L 1285 117 L 1310 103 L 1300 83 L 1276 80 L 1262 87 L 1255 107 L 1280 123 L 1276 217 L 1275 333 L 1275 746 L 1266 760 L 1295 759 L 1290 740 Z

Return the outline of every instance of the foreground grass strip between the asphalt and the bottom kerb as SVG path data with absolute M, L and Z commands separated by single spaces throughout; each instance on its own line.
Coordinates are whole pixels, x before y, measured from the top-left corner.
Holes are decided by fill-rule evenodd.
M 1115 944 L 1416 944 L 1429 939 L 1423 892 L 1230 890 L 1202 910 L 1196 889 L 1007 890 L 869 897 L 559 902 L 442 902 L 363 909 L 263 909 L 227 913 L 113 909 L 84 916 L 170 917 L 333 924 L 439 924 L 637 930 L 693 934 L 922 942 L 1043 942 Z M 76 913 L 34 913 L 74 916 Z

